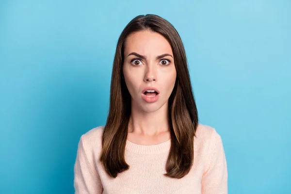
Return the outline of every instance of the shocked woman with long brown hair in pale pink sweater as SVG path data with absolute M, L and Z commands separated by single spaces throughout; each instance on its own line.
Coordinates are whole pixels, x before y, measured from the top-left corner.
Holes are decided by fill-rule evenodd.
M 81 136 L 74 173 L 76 194 L 227 194 L 221 137 L 198 124 L 183 43 L 162 17 L 121 33 L 106 125 Z

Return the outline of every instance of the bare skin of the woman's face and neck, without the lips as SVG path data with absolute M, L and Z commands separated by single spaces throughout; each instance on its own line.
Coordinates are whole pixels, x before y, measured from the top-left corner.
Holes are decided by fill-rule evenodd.
M 143 55 L 146 59 L 129 55 L 132 52 Z M 156 59 L 166 53 L 171 56 Z M 132 143 L 157 145 L 171 138 L 168 100 L 177 77 L 172 56 L 169 42 L 157 32 L 134 32 L 125 42 L 123 74 L 131 96 L 128 140 Z M 133 59 L 135 60 L 132 61 Z M 142 91 L 146 86 L 153 86 L 160 91 L 156 102 L 147 103 L 142 98 Z

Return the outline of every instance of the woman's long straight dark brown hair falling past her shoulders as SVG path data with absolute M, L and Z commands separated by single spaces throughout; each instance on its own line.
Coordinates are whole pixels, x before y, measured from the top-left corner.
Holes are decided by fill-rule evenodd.
M 182 178 L 189 173 L 193 165 L 198 113 L 182 40 L 174 26 L 157 15 L 136 16 L 125 27 L 118 39 L 113 61 L 109 114 L 102 136 L 100 161 L 108 175 L 113 178 L 117 177 L 118 173 L 129 169 L 124 154 L 131 98 L 122 71 L 124 44 L 130 33 L 144 30 L 162 34 L 170 43 L 174 54 L 177 78 L 168 102 L 171 148 L 166 163 L 167 173 L 164 175 Z

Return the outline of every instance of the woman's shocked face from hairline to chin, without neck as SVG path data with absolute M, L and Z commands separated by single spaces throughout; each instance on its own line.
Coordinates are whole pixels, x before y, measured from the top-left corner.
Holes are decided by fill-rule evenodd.
M 177 76 L 173 57 L 169 42 L 157 32 L 140 31 L 128 36 L 123 74 L 131 103 L 146 112 L 154 112 L 168 102 Z M 143 91 L 148 86 L 159 91 L 157 97 L 145 96 Z

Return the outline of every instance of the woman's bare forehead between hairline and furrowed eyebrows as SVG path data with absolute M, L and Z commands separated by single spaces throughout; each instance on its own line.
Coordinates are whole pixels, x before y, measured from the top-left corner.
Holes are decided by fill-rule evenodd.
M 143 55 L 172 54 L 172 48 L 167 39 L 158 32 L 139 31 L 129 34 L 125 43 L 124 54 L 138 52 Z

